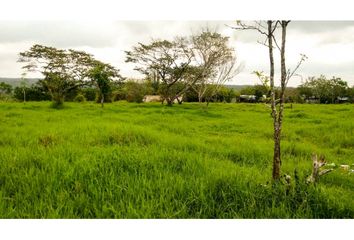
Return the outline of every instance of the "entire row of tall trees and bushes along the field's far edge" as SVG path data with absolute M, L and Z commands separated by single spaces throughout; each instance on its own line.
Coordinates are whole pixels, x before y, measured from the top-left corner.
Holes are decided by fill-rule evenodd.
M 120 70 L 101 62 L 93 55 L 73 49 L 57 49 L 35 44 L 20 52 L 24 75 L 19 87 L 0 85 L 2 100 L 51 100 L 54 107 L 64 101 L 106 102 L 127 100 L 143 102 L 144 96 L 172 105 L 187 102 L 267 102 L 270 89 L 255 85 L 241 90 L 225 86 L 240 71 L 235 50 L 229 38 L 208 29 L 200 33 L 153 39 L 138 43 L 126 51 L 126 63 L 143 74 L 141 80 L 129 80 Z M 42 74 L 43 79 L 29 85 L 27 72 Z M 276 98 L 280 93 L 276 92 Z M 287 102 L 339 103 L 353 102 L 353 88 L 340 78 L 309 78 L 297 88 L 285 92 Z

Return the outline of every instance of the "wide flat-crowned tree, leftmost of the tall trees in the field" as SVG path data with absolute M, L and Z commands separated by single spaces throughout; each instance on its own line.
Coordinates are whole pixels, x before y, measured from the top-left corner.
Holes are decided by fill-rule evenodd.
M 54 106 L 61 106 L 70 90 L 87 84 L 84 80 L 93 60 L 92 55 L 83 51 L 62 50 L 38 44 L 21 52 L 19 57 L 19 62 L 26 63 L 23 69 L 44 75 L 43 83 Z

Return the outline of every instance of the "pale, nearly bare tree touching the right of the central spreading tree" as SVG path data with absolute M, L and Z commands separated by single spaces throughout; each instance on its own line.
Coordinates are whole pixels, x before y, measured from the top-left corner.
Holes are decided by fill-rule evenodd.
M 228 45 L 229 37 L 208 29 L 192 36 L 191 42 L 196 65 L 192 75 L 196 82 L 192 87 L 199 103 L 205 99 L 208 106 L 220 87 L 237 74 L 235 51 Z

